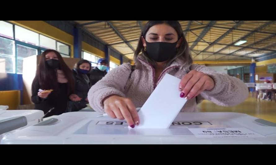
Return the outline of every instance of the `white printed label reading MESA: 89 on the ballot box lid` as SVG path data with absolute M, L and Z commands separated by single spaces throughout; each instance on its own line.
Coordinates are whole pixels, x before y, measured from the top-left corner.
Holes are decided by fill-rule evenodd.
M 188 128 L 199 138 L 240 138 L 240 137 L 265 137 L 247 128 Z

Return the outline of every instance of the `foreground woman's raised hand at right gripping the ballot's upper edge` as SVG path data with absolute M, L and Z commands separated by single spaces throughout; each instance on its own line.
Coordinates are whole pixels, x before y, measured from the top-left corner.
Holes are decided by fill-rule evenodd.
M 204 74 L 203 72 L 192 70 L 183 76 L 179 83 L 179 90 L 181 91 L 180 97 L 191 99 L 199 95 L 204 90 L 213 89 L 214 86 L 215 82 L 210 76 Z

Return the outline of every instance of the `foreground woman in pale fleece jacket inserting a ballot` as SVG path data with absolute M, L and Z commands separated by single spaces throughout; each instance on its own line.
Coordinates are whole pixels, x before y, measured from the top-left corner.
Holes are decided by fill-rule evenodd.
M 126 63 L 112 69 L 88 93 L 93 109 L 105 112 L 111 118 L 126 119 L 132 128 L 140 122 L 136 107 L 143 106 L 167 73 L 181 79 L 175 88 L 183 102 L 187 99 L 182 112 L 196 111 L 197 103 L 203 99 L 220 106 L 234 106 L 248 97 L 243 81 L 193 64 L 178 21 L 149 21 L 145 24 L 134 61 L 135 67 Z

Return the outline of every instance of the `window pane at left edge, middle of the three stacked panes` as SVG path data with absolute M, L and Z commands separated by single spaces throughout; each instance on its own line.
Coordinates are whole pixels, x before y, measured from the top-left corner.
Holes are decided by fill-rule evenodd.
M 0 37 L 0 54 L 15 56 L 15 45 L 13 40 Z

